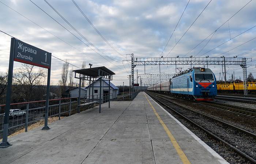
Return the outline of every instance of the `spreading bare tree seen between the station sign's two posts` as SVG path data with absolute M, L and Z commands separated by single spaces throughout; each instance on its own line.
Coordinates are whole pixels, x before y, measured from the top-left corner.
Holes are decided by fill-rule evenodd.
M 19 69 L 16 69 L 14 71 L 13 75 L 14 84 L 18 85 L 18 87 L 16 87 L 16 90 L 19 93 L 17 94 L 25 99 L 25 101 L 30 101 L 31 97 L 33 96 L 32 91 L 36 87 L 44 84 L 45 77 L 46 74 L 43 69 L 40 68 L 38 71 L 35 71 L 35 66 L 22 64 Z

